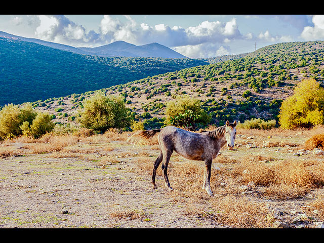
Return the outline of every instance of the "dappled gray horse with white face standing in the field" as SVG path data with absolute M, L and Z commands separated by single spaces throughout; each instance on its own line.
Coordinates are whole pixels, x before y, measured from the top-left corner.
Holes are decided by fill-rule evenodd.
M 228 149 L 234 147 L 234 139 L 236 135 L 236 121 L 234 123 L 226 124 L 217 128 L 214 131 L 201 131 L 200 133 L 189 132 L 173 126 L 165 127 L 163 129 L 154 129 L 148 131 L 140 131 L 133 134 L 127 141 L 135 144 L 144 144 L 151 139 L 156 133 L 160 152 L 154 161 L 154 168 L 152 174 L 153 188 L 156 189 L 155 175 L 156 169 L 162 163 L 162 170 L 165 179 L 165 185 L 169 190 L 173 190 L 168 179 L 168 164 L 173 151 L 179 155 L 192 160 L 205 161 L 205 175 L 203 189 L 209 195 L 213 195 L 210 188 L 211 167 L 212 161 L 217 157 L 220 149 L 227 143 Z

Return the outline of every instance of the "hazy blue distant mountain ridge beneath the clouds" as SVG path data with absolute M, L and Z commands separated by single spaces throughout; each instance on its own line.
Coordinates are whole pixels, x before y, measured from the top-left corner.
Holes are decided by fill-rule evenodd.
M 62 51 L 76 54 L 101 56 L 101 57 L 161 57 L 161 58 L 186 58 L 182 54 L 158 43 L 150 43 L 143 46 L 136 46 L 124 41 L 117 41 L 101 47 L 71 47 L 53 42 L 42 41 L 41 39 L 26 38 L 0 31 L 0 37 L 20 39 L 24 42 L 36 43 L 52 47 Z

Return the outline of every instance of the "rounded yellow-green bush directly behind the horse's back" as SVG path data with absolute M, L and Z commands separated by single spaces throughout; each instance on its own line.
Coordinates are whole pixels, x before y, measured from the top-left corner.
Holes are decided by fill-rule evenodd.
M 170 101 L 166 109 L 166 124 L 177 127 L 196 127 L 207 125 L 211 117 L 201 109 L 200 101 L 188 95 L 177 96 L 176 101 Z

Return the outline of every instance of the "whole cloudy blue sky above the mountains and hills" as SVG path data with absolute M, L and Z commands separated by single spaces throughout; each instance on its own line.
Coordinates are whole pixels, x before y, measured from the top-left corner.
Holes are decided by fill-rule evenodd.
M 0 15 L 0 31 L 74 47 L 157 42 L 206 58 L 324 40 L 324 15 Z

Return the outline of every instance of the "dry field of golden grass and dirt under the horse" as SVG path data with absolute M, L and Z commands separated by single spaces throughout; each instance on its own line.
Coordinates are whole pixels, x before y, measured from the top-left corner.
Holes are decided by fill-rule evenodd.
M 213 161 L 213 197 L 201 189 L 203 161 L 176 153 L 174 191 L 160 168 L 152 189 L 154 138 L 140 147 L 126 142 L 132 133 L 116 131 L 2 141 L 0 227 L 320 227 L 324 155 L 305 141 L 323 133 L 237 130 L 235 150 L 223 148 Z

